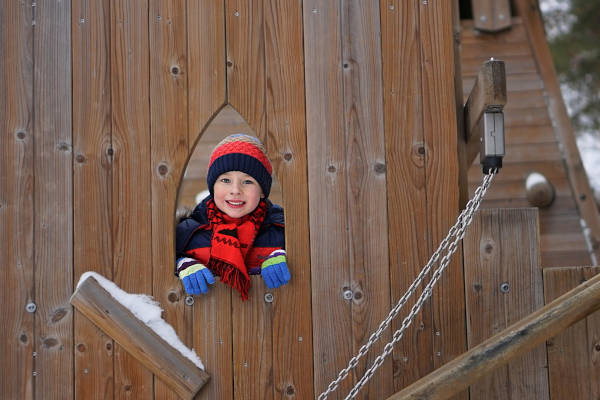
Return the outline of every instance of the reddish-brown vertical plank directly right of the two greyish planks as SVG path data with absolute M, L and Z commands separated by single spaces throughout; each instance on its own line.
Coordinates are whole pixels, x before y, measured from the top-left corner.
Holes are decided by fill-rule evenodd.
M 419 1 L 380 2 L 392 304 L 428 259 Z M 406 305 L 408 310 L 415 299 Z M 400 327 L 401 319 L 392 323 Z M 395 390 L 433 370 L 431 305 L 394 350 Z

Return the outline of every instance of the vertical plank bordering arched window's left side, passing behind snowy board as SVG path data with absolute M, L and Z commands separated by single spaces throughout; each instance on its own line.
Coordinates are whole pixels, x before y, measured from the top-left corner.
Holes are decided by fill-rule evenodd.
M 152 293 L 161 304 L 163 319 L 192 347 L 191 318 L 186 321 L 185 293 L 173 275 L 174 205 L 178 173 L 188 153 L 186 1 L 151 0 L 150 130 L 152 165 Z M 170 207 L 169 207 L 170 206 Z M 189 317 L 192 316 L 188 312 Z M 188 322 L 188 323 L 186 323 Z M 154 396 L 177 399 L 177 394 L 154 377 Z

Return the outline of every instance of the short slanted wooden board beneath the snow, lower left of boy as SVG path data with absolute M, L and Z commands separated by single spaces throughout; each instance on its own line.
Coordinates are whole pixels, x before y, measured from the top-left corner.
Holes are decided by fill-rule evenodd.
M 96 279 L 87 278 L 71 304 L 183 399 L 193 399 L 209 375 L 137 319 Z

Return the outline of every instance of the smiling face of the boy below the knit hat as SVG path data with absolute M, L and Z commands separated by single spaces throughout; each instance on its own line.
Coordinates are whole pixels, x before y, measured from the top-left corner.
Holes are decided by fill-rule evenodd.
M 263 197 L 262 189 L 256 179 L 240 171 L 228 171 L 219 175 L 213 193 L 219 210 L 231 218 L 250 214 Z

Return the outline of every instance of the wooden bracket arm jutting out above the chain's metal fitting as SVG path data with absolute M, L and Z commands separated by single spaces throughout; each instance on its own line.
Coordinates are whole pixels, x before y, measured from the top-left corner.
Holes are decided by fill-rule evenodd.
M 479 153 L 483 131 L 483 114 L 501 112 L 506 104 L 506 70 L 504 61 L 488 60 L 479 73 L 465 104 L 465 141 L 467 165 Z

